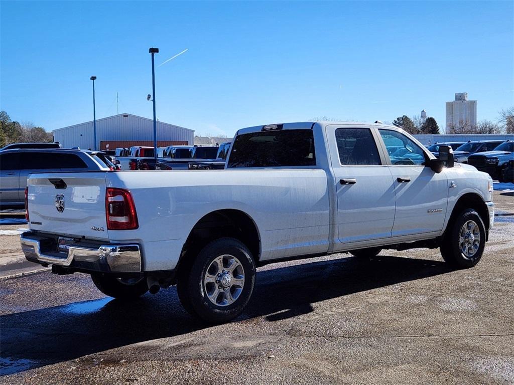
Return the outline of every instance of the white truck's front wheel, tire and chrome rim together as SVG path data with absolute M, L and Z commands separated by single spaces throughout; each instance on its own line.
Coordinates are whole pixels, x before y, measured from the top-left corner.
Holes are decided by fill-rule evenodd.
M 458 268 L 473 267 L 479 263 L 484 247 L 484 222 L 472 208 L 462 211 L 455 218 L 439 246 L 445 262 Z

